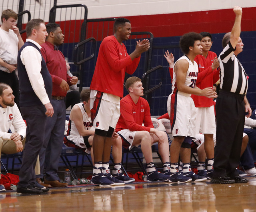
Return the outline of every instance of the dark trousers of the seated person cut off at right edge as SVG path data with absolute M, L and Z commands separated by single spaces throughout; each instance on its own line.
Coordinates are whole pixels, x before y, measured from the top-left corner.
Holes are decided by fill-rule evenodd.
M 240 162 L 244 169 L 251 169 L 255 167 L 252 149 L 256 149 L 256 130 L 244 128 L 244 133 L 249 137 L 248 145 L 241 156 Z

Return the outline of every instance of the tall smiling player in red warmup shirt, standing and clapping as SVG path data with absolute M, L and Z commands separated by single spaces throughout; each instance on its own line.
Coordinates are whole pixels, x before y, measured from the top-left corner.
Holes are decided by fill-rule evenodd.
M 114 129 L 120 116 L 124 75 L 134 73 L 140 61 L 140 55 L 150 47 L 147 39 L 137 41 L 135 50 L 128 55 L 122 41 L 130 38 L 131 28 L 128 19 L 116 19 L 114 35 L 105 37 L 100 45 L 92 77 L 90 109 L 96 130 L 92 142 L 95 165 L 91 182 L 96 185 L 113 185 L 118 181 L 114 177 L 106 178 L 102 174 L 102 167 L 108 166 L 108 164 L 102 164 L 102 155 L 110 155 L 111 137 L 116 133 Z

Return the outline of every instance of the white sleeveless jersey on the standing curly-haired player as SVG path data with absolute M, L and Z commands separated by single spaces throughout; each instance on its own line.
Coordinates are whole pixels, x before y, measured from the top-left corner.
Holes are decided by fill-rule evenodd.
M 181 60 L 181 59 L 185 59 L 188 61 L 189 63 L 189 67 L 188 67 L 188 71 L 187 71 L 187 75 L 186 75 L 186 81 L 185 84 L 187 86 L 190 86 L 191 88 L 194 88 L 196 86 L 196 80 L 197 80 L 197 75 L 198 75 L 198 66 L 197 63 L 195 61 L 191 62 L 190 59 L 188 59 L 188 57 L 186 55 L 183 55 L 182 57 L 180 57 L 180 59 L 178 59 L 175 63 L 174 63 L 174 67 L 176 65 L 176 63 Z M 174 69 L 173 67 L 173 69 Z M 177 88 L 177 84 L 176 84 L 176 74 L 173 71 L 173 77 L 172 77 L 172 93 L 174 92 L 174 90 L 178 90 Z M 180 92 L 179 93 L 183 93 Z M 183 93 L 184 94 L 184 93 Z M 185 95 L 189 95 L 191 96 L 191 94 L 185 94 Z

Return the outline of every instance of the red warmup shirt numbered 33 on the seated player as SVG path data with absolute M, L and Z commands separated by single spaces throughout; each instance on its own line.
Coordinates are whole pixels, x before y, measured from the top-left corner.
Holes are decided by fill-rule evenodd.
M 128 94 L 120 100 L 120 118 L 116 125 L 116 132 L 124 129 L 130 131 L 148 131 L 154 128 L 148 101 L 140 97 L 135 104 L 131 96 Z M 142 124 L 144 123 L 144 126 Z

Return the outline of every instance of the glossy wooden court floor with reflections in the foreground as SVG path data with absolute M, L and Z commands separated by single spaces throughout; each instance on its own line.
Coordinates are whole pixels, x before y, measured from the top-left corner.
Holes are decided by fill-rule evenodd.
M 134 183 L 51 189 L 44 195 L 0 193 L 6 211 L 255 211 L 256 177 L 249 183 Z

